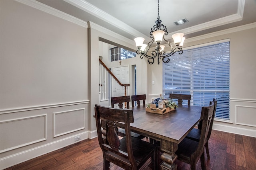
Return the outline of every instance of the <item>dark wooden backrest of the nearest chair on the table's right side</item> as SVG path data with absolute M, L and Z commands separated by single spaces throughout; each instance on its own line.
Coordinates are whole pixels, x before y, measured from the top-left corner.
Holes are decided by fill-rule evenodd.
M 199 140 L 198 148 L 192 154 L 192 156 L 194 158 L 198 158 L 197 160 L 199 160 L 200 156 L 204 152 L 204 146 L 205 146 L 206 142 L 208 141 L 207 136 L 208 136 L 208 133 L 210 130 L 210 124 L 214 119 L 213 118 L 214 107 L 215 107 L 214 102 L 210 102 L 210 106 L 202 107 L 202 111 L 201 111 L 202 129 L 201 129 L 200 140 Z M 196 160 L 196 162 L 197 162 L 197 160 Z

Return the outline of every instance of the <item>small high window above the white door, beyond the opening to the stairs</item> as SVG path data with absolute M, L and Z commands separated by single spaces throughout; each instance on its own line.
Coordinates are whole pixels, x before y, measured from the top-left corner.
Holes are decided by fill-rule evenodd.
M 110 59 L 111 61 L 118 61 L 136 57 L 136 53 L 120 48 L 114 47 L 110 49 Z

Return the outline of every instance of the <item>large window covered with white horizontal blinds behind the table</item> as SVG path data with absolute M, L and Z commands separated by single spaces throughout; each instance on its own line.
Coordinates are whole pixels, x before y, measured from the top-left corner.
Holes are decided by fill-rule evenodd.
M 230 119 L 229 83 L 229 40 L 184 50 L 163 64 L 164 97 L 168 98 L 170 93 L 191 94 L 190 104 L 197 106 L 207 106 L 216 98 L 216 118 Z

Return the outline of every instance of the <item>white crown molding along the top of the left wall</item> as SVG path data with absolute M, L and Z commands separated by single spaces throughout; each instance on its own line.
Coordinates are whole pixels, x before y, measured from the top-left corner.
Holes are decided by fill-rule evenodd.
M 53 16 L 56 16 L 58 18 L 62 18 L 64 20 L 70 21 L 70 22 L 75 23 L 77 25 L 80 25 L 82 27 L 85 27 L 85 28 L 88 27 L 86 21 L 80 20 L 80 19 L 78 19 L 76 17 L 73 17 L 69 14 L 66 14 L 65 12 L 62 12 L 60 10 L 56 10 L 55 8 L 52 8 L 52 7 L 47 6 L 45 4 L 42 4 L 41 2 L 38 2 L 36 0 L 16 0 L 16 1 L 18 1 L 22 4 L 26 4 L 28 6 L 31 6 L 33 8 L 36 8 L 38 10 L 41 10 L 43 12 L 46 12 L 48 14 L 52 14 Z

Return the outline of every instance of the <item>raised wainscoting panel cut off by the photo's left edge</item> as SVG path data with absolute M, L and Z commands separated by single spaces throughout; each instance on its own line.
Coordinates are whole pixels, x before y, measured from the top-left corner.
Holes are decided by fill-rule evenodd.
M 0 153 L 45 141 L 46 114 L 1 121 L 0 129 Z

